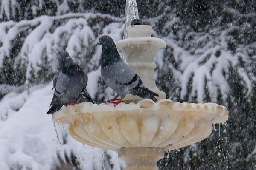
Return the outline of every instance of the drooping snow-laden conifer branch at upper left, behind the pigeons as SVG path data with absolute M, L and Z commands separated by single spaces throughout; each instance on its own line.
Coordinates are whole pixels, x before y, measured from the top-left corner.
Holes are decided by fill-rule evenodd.
M 5 58 L 11 57 L 14 70 L 22 66 L 26 84 L 32 79 L 52 78 L 58 71 L 57 57 L 62 51 L 81 63 L 89 65 L 96 45 L 97 31 L 105 27 L 104 20 L 121 20 L 102 14 L 65 14 L 62 16 L 41 16 L 33 20 L 0 23 L 0 68 Z M 90 22 L 90 23 L 88 23 Z M 99 22 L 99 23 L 97 23 Z M 101 26 L 99 26 L 101 25 Z M 95 34 L 96 33 L 96 34 Z M 6 63 L 4 63 L 6 65 Z M 90 63 L 90 68 L 93 64 Z M 43 74 L 50 75 L 45 78 Z

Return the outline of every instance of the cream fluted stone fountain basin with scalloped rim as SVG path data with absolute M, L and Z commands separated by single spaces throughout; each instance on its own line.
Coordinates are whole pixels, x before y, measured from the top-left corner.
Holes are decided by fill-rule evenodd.
M 107 150 L 123 147 L 159 147 L 174 150 L 199 142 L 212 132 L 212 123 L 225 122 L 228 111 L 215 103 L 189 104 L 143 99 L 137 104 L 69 105 L 53 121 L 69 124 L 79 142 Z

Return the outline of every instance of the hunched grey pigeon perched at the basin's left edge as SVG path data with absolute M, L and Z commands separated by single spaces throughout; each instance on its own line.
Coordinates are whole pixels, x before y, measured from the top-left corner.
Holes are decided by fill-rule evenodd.
M 63 105 L 75 103 L 85 86 L 83 69 L 73 61 L 66 51 L 61 53 L 58 60 L 61 73 L 58 75 L 58 79 L 53 81 L 55 91 L 47 114 L 58 111 Z

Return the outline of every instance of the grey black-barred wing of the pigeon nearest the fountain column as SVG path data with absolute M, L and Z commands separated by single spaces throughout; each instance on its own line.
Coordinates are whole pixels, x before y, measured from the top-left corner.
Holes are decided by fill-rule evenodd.
M 116 62 L 111 69 L 114 80 L 125 86 L 126 89 L 131 90 L 137 86 L 144 87 L 140 77 L 125 62 Z

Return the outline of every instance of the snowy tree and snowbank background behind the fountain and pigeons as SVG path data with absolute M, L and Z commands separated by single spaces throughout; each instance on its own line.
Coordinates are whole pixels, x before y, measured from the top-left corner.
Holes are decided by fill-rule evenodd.
M 137 0 L 139 17 L 165 40 L 157 87 L 174 102 L 229 110 L 205 140 L 166 153 L 160 170 L 256 169 L 256 1 Z M 46 115 L 62 51 L 88 71 L 97 103 L 115 94 L 100 76 L 99 37 L 124 34 L 125 0 L 0 1 L 0 169 L 121 170 L 117 154 L 76 142 Z

